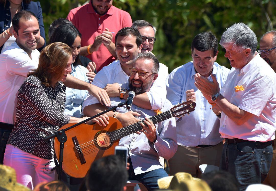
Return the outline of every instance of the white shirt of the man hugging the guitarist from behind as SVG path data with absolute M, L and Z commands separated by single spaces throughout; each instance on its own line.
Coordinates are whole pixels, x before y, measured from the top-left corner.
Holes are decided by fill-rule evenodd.
M 168 67 L 162 63 L 159 63 L 159 65 L 158 77 L 152 84 L 150 91 L 147 92 L 152 110 L 162 108 L 164 100 L 166 99 L 165 79 L 168 76 Z M 121 86 L 122 84 L 128 83 L 128 78 L 129 76 L 123 71 L 120 61 L 116 60 L 108 66 L 103 67 L 95 76 L 92 84 L 100 88 L 104 88 L 107 84 L 113 83 L 118 83 Z M 83 108 L 87 105 L 99 103 L 94 96 L 88 95 L 83 102 Z

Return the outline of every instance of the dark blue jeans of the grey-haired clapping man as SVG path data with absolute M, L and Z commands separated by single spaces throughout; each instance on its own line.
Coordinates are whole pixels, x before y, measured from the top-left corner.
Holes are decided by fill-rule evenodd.
M 261 184 L 267 176 L 272 161 L 272 142 L 225 142 L 220 170 L 233 174 L 240 183 L 240 190 L 250 184 Z

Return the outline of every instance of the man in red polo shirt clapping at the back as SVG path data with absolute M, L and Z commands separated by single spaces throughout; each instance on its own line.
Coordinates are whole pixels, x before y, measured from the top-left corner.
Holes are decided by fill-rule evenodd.
M 81 32 L 80 54 L 95 62 L 97 71 L 116 60 L 115 34 L 132 24 L 129 13 L 114 7 L 112 2 L 90 0 L 67 16 Z

